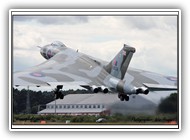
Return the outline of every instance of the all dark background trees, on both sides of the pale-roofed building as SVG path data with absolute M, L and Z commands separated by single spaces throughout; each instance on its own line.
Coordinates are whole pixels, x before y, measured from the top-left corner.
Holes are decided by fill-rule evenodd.
M 63 91 L 63 94 L 86 94 L 89 93 L 87 90 L 68 90 Z M 27 102 L 27 96 L 29 102 Z M 13 88 L 12 93 L 12 107 L 13 114 L 37 114 L 39 111 L 39 105 L 45 109 L 45 105 L 51 101 L 55 100 L 53 91 L 32 91 L 27 89 L 18 90 Z M 28 112 L 27 106 L 30 107 Z M 177 113 L 178 112 L 178 95 L 177 93 L 172 93 L 170 96 L 162 99 L 156 113 Z

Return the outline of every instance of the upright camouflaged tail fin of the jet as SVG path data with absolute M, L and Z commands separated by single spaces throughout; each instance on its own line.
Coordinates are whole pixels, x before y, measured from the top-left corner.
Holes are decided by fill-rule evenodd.
M 112 76 L 123 79 L 134 52 L 135 48 L 124 44 L 122 50 L 104 67 L 105 70 Z

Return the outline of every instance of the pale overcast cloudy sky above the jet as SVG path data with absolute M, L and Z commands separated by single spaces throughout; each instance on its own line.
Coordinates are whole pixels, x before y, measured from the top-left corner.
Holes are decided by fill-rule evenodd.
M 36 46 L 53 41 L 106 61 L 126 43 L 131 67 L 177 75 L 177 16 L 14 16 L 13 71 L 45 61 Z

